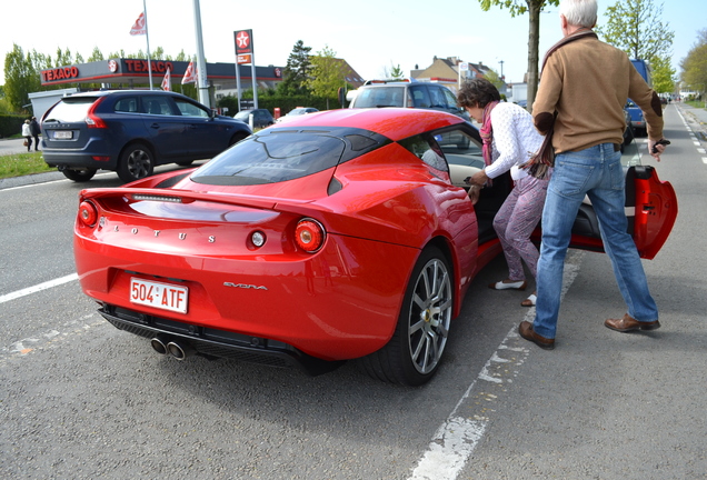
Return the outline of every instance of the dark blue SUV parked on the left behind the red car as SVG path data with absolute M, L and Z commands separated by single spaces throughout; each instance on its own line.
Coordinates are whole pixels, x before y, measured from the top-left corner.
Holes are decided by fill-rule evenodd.
M 98 170 L 138 180 L 160 164 L 210 159 L 252 133 L 189 97 L 159 90 L 64 97 L 44 113 L 41 129 L 47 164 L 78 182 Z

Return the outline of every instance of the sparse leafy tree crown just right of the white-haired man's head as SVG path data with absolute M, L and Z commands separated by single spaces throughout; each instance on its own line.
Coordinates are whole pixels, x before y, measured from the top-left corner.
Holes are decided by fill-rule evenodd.
M 619 0 L 607 8 L 606 16 L 606 24 L 595 30 L 607 43 L 635 59 L 669 54 L 675 32 L 660 21 L 663 4 L 655 7 L 653 0 Z

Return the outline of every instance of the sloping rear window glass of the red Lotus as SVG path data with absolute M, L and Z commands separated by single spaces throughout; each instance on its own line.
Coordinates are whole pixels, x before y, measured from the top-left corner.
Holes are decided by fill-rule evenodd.
M 341 138 L 281 131 L 252 136 L 196 171 L 191 180 L 206 184 L 276 183 L 335 167 L 346 149 Z

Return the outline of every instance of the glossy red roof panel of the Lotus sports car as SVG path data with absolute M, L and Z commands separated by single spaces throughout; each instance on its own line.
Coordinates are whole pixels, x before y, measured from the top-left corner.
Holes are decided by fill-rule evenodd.
M 380 133 L 398 141 L 429 130 L 459 123 L 465 119 L 451 113 L 409 108 L 339 109 L 300 116 L 275 130 L 301 130 L 302 128 L 359 128 Z

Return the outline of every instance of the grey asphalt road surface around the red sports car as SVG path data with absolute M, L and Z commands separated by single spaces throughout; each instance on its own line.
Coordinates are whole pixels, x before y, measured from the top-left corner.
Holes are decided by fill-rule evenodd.
M 663 328 L 606 329 L 625 311 L 608 258 L 572 251 L 556 349 L 540 350 L 516 334 L 527 292 L 486 288 L 506 274 L 499 258 L 474 281 L 439 374 L 417 389 L 352 363 L 309 378 L 159 357 L 94 313 L 73 277 L 77 194 L 117 177 L 0 183 L 0 476 L 707 478 L 707 154 L 693 117 L 669 106 L 666 124 L 657 169 L 680 212 L 644 263 Z

